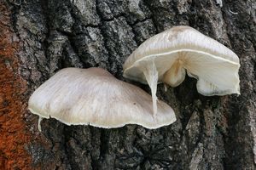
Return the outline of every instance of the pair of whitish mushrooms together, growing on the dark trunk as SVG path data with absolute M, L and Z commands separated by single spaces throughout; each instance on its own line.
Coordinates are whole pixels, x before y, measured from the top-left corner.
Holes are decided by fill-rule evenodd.
M 176 121 L 172 108 L 157 100 L 157 83 L 177 87 L 187 72 L 198 80 L 200 94 L 240 94 L 239 67 L 229 48 L 189 26 L 174 26 L 150 37 L 125 61 L 124 77 L 148 84 L 152 99 L 101 68 L 67 68 L 44 82 L 28 107 L 33 114 L 67 125 L 157 128 Z

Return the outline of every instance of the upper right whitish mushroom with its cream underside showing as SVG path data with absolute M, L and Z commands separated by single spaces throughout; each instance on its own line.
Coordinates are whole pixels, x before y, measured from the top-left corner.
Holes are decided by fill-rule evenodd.
M 158 82 L 177 87 L 186 72 L 200 94 L 240 94 L 237 55 L 189 26 L 174 26 L 143 42 L 125 61 L 124 77 L 149 85 L 156 114 Z

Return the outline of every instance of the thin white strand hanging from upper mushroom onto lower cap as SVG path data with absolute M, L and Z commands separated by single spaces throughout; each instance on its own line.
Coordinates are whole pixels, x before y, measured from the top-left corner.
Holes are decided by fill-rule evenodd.
M 151 88 L 152 102 L 153 102 L 153 111 L 154 118 L 157 115 L 157 97 L 156 97 L 156 89 L 158 82 L 158 71 L 156 70 L 156 66 L 154 65 L 154 60 L 145 61 L 145 65 L 143 67 L 143 74 L 146 77 L 149 87 Z

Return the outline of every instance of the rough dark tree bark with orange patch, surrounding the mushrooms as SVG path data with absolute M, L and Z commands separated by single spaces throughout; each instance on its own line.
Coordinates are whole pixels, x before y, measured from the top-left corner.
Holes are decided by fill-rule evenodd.
M 255 169 L 255 11 L 255 0 L 0 0 L 0 169 Z M 100 66 L 125 80 L 129 54 L 177 25 L 236 52 L 240 96 L 202 96 L 186 77 L 178 88 L 158 88 L 176 111 L 170 126 L 102 129 L 49 119 L 38 133 L 27 99 L 56 71 Z

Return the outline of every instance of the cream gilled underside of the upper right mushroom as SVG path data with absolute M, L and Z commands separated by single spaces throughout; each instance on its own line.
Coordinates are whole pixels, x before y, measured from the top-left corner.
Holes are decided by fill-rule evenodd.
M 240 94 L 238 70 L 240 65 L 234 61 L 198 51 L 177 51 L 170 54 L 147 56 L 136 62 L 136 72 L 142 71 L 151 88 L 154 113 L 158 82 L 177 87 L 185 78 L 198 80 L 196 88 L 206 96 Z M 128 69 L 129 70 L 129 69 Z M 138 71 L 139 70 L 139 71 Z M 129 77 L 125 75 L 125 77 Z M 136 76 L 131 79 L 138 79 Z M 160 80 L 159 80 L 160 79 Z M 140 82 L 143 82 L 140 80 Z

